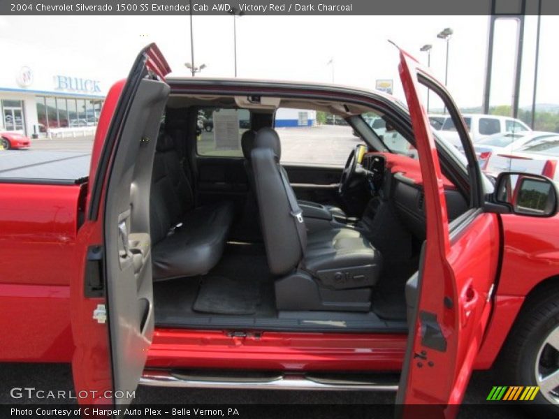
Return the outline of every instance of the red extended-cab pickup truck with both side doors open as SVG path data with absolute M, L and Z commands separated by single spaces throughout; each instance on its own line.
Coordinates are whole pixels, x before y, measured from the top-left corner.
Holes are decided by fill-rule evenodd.
M 127 404 L 138 383 L 370 389 L 449 417 L 499 357 L 496 385 L 539 386 L 531 403 L 557 411 L 556 185 L 492 184 L 444 86 L 403 51 L 399 70 L 407 107 L 351 87 L 166 80 L 146 47 L 109 91 L 89 174 L 0 170 L 0 360 L 71 362 L 84 404 Z M 465 158 L 431 131 L 421 84 Z M 342 117 L 363 141 L 344 168 L 281 166 L 279 107 Z M 416 152 L 387 147 L 370 115 Z

